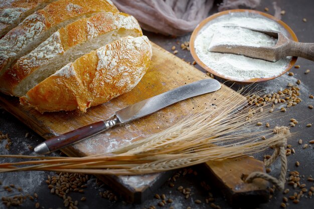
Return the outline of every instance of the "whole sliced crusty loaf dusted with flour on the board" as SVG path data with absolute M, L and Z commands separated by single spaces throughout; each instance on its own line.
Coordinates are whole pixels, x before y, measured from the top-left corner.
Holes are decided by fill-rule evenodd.
M 1 2 L 0 31 L 0 91 L 42 113 L 83 113 L 130 91 L 152 56 L 137 21 L 110 0 Z

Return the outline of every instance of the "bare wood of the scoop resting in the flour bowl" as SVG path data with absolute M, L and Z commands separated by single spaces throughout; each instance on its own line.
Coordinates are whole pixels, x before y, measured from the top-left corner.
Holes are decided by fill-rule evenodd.
M 232 26 L 235 27 L 235 26 Z M 253 47 L 229 44 L 218 44 L 211 46 L 208 50 L 210 52 L 229 53 L 236 55 L 244 55 L 246 57 L 257 58 L 270 62 L 276 62 L 281 58 L 287 56 L 302 57 L 307 60 L 314 61 L 314 43 L 299 43 L 288 39 L 281 32 L 268 31 L 261 29 L 252 29 L 246 27 L 239 27 L 264 33 L 268 36 L 277 39 L 277 43 L 273 47 Z

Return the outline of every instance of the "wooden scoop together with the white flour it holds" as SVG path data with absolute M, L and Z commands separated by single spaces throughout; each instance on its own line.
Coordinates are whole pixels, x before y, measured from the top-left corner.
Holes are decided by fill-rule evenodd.
M 269 45 L 269 43 L 267 42 L 261 43 L 260 45 L 258 43 L 243 44 L 243 40 L 242 43 L 240 42 L 240 39 L 243 39 L 243 37 L 229 36 L 228 39 L 222 39 L 221 34 L 219 34 L 218 36 L 217 34 L 214 34 L 208 51 L 244 55 L 246 57 L 257 58 L 270 62 L 276 62 L 277 60 L 280 60 L 281 58 L 287 56 L 302 57 L 307 60 L 314 61 L 314 43 L 295 42 L 288 39 L 286 36 L 278 31 L 261 30 L 239 26 L 224 27 L 229 27 L 231 30 L 240 29 L 250 30 L 252 31 L 252 33 L 262 33 L 263 35 L 268 35 L 269 37 L 276 39 L 277 42 L 273 46 Z M 239 35 L 241 35 L 241 33 L 239 33 Z M 215 36 L 217 37 L 217 40 L 219 39 L 218 42 L 214 41 Z

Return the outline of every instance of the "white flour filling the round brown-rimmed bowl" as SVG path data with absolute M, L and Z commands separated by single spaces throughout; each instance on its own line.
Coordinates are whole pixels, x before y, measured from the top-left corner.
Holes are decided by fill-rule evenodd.
M 241 39 L 236 42 L 238 44 L 242 43 L 242 45 L 243 43 L 247 43 L 250 44 L 250 46 L 253 45 L 257 47 L 271 46 L 274 45 L 274 42 L 276 42 L 276 40 L 273 40 L 273 38 L 264 36 L 264 34 L 259 32 L 256 32 L 259 34 L 256 36 L 256 34 L 252 33 L 250 30 L 241 30 L 238 33 L 232 32 L 231 34 L 220 36 L 221 32 L 227 32 L 228 28 L 232 28 L 226 27 L 227 29 L 222 30 L 222 26 L 242 26 L 248 28 L 273 30 L 280 31 L 286 36 L 288 35 L 287 32 L 275 21 L 263 18 L 257 14 L 244 13 L 245 17 L 243 13 L 241 14 L 234 13 L 224 15 L 216 18 L 204 26 L 203 30 L 200 31 L 195 40 L 195 51 L 198 57 L 202 62 L 204 62 L 208 67 L 216 71 L 218 74 L 224 75 L 232 80 L 244 81 L 251 78 L 269 78 L 279 75 L 286 69 L 286 66 L 289 64 L 291 57 L 286 57 L 273 63 L 259 59 L 252 59 L 241 55 L 214 53 L 208 51 L 212 40 L 215 41 L 215 43 L 228 42 L 230 40 L 234 41 L 234 37 L 236 35 L 237 38 Z M 214 36 L 215 32 L 218 32 L 217 38 Z

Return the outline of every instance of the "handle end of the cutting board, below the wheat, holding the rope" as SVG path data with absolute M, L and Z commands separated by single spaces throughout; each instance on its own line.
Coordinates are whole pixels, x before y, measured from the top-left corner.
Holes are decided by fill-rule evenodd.
M 252 172 L 265 172 L 262 161 L 244 156 L 223 161 L 208 161 L 204 166 L 208 176 L 216 179 L 212 183 L 221 189 L 231 205 L 243 206 L 245 203 L 246 206 L 256 206 L 269 200 L 267 181 L 256 178 L 253 183 L 244 182 L 245 177 Z

